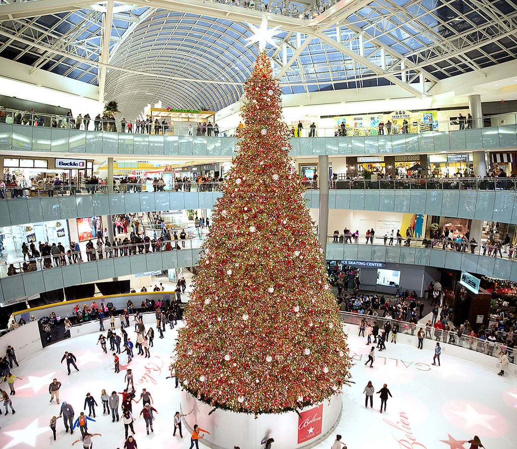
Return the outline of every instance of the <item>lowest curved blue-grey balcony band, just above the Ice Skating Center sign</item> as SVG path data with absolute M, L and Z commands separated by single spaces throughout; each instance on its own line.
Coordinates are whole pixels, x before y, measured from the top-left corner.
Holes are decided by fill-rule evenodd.
M 362 241 L 364 237 L 360 236 Z M 332 237 L 329 237 L 331 240 Z M 376 238 L 375 244 L 328 243 L 327 260 L 373 261 L 393 264 L 429 266 L 464 270 L 471 273 L 508 279 L 517 282 L 517 261 L 502 257 L 483 255 L 481 245 L 471 250 L 466 245 L 463 251 L 442 249 L 440 241 L 417 240 L 401 245 L 383 244 Z M 0 277 L 0 301 L 38 295 L 42 291 L 96 282 L 115 276 L 125 276 L 164 269 L 191 267 L 199 260 L 200 239 L 190 239 L 179 250 L 148 252 L 121 257 L 104 258 L 79 264 L 36 270 L 22 274 Z M 436 244 L 434 244 L 436 243 Z M 425 247 L 425 246 L 428 247 Z M 472 252 L 471 252 L 472 251 Z

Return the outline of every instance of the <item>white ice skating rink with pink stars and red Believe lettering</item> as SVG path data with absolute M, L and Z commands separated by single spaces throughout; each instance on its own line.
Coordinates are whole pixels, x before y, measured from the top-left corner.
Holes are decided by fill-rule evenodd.
M 134 342 L 134 328 L 128 328 L 128 334 Z M 172 436 L 173 415 L 179 411 L 180 395 L 179 389 L 174 388 L 174 379 L 165 379 L 169 376 L 176 330 L 168 329 L 162 340 L 157 334 L 155 346 L 150 348 L 151 358 L 136 355 L 130 364 L 136 398 L 140 397 L 142 388 L 146 388 L 158 410 L 154 433 L 149 436 L 146 435 L 143 417 L 136 420 L 135 440 L 139 449 L 188 448 L 190 436 L 185 429 L 183 439 L 177 434 Z M 96 422 L 88 422 L 90 433 L 102 434 L 102 437 L 93 438 L 94 448 L 124 446 L 124 425 L 121 421 L 112 423 L 111 414 L 102 414 L 100 394 L 102 389 L 111 394 L 125 388 L 127 358 L 124 353 L 120 354 L 120 373 L 115 374 L 111 352 L 104 354 L 100 345 L 96 346 L 98 336 L 95 333 L 56 343 L 29 360 L 23 360 L 19 368 L 14 366 L 12 373 L 23 380 L 16 380 L 17 393 L 11 396 L 17 413 L 6 416 L 2 407 L 0 448 L 62 449 L 69 448 L 80 437 L 79 429 L 72 436 L 65 433 L 63 420 L 59 419 L 57 440 L 52 439 L 49 421 L 53 415 L 59 414 L 60 408 L 55 401 L 49 403 L 48 386 L 54 377 L 63 383 L 60 400 L 72 405 L 75 417 L 83 410 L 86 393 L 91 393 L 99 404 Z M 373 368 L 369 368 L 364 366 L 369 351 L 366 340 L 349 335 L 348 342 L 355 362 L 352 374 L 356 383 L 344 389 L 343 413 L 334 432 L 341 433 L 348 449 L 460 449 L 469 445 L 462 446 L 459 442 L 469 440 L 475 434 L 488 449 L 515 449 L 515 378 L 501 378 L 495 369 L 488 370 L 467 360 L 449 357 L 447 345 L 443 345 L 442 366 L 432 366 L 434 342 L 431 340 L 425 340 L 423 350 L 388 343 L 385 351 L 376 353 Z M 66 362 L 63 365 L 59 363 L 66 350 L 76 355 L 80 369 L 77 372 L 72 367 L 70 376 L 67 375 Z M 388 399 L 386 413 L 379 413 L 378 395 L 374 395 L 373 409 L 364 408 L 362 391 L 368 380 L 373 382 L 376 391 L 382 388 L 383 383 L 388 384 L 393 397 Z M 2 389 L 9 391 L 7 383 L 2 383 Z M 142 410 L 141 405 L 142 402 L 133 404 L 135 417 Z M 333 440 L 332 435 L 316 447 L 330 449 Z M 241 449 L 251 447 L 250 442 L 236 441 L 235 444 Z M 81 448 L 82 444 L 77 443 L 73 447 Z M 275 445 L 273 448 L 282 449 Z

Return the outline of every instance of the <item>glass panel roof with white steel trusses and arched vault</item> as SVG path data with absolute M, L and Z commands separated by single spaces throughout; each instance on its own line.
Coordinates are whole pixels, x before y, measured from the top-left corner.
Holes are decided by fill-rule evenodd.
M 335 0 L 212 3 L 285 18 L 274 37 L 278 48 L 267 49 L 285 94 L 391 84 L 385 71 L 399 79 L 404 71 L 417 86 L 420 71 L 435 82 L 517 59 L 513 0 L 376 0 L 343 9 Z M 3 21 L 0 56 L 98 84 L 99 69 L 87 61 L 100 61 L 104 7 Z M 115 3 L 109 64 L 120 70 L 108 70 L 106 101 L 117 100 L 127 115 L 159 100 L 210 110 L 237 101 L 258 49 L 247 43 L 247 24 L 232 21 L 232 14 L 218 19 Z M 312 24 L 319 14 L 325 26 Z M 292 18 L 316 33 L 307 45 L 306 30 L 300 33 Z

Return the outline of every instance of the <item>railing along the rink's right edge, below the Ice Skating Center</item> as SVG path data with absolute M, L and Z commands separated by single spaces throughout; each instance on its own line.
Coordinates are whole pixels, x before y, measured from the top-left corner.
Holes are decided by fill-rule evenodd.
M 457 331 L 444 331 L 440 329 L 428 328 L 422 324 L 418 323 L 410 323 L 408 321 L 400 321 L 393 318 L 385 318 L 381 316 L 371 316 L 364 314 L 356 314 L 350 312 L 339 312 L 341 321 L 347 324 L 355 324 L 359 326 L 362 320 L 365 322 L 369 322 L 373 324 L 373 321 L 376 321 L 379 325 L 379 329 L 384 327 L 386 321 L 391 323 L 391 327 L 393 327 L 394 323 L 399 324 L 399 333 L 406 335 L 414 335 L 416 336 L 418 331 L 423 329 L 425 331 L 425 339 L 428 340 L 436 340 L 440 343 L 448 343 L 454 346 L 460 346 L 465 349 L 473 350 L 476 352 L 481 352 L 492 357 L 498 357 L 499 351 L 503 351 L 508 355 L 510 363 L 515 363 L 515 356 L 517 355 L 517 350 L 509 348 L 505 345 L 504 342 L 489 342 L 489 340 L 476 338 L 470 335 L 462 335 L 461 337 L 458 335 Z M 433 338 L 434 337 L 434 338 Z

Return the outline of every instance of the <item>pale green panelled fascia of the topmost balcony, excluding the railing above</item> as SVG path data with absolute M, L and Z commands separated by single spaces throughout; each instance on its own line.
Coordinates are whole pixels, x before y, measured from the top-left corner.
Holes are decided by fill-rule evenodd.
M 0 123 L 0 151 L 105 156 L 233 157 L 238 137 L 85 131 Z M 401 154 L 517 147 L 516 125 L 407 134 L 292 137 L 290 155 Z

